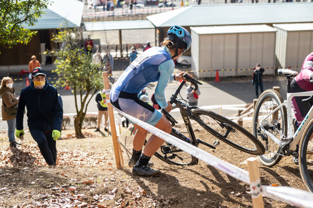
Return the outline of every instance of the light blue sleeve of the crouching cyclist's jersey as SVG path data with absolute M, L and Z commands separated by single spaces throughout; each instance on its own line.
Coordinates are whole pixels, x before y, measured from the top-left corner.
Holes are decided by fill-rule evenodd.
M 161 108 L 167 108 L 168 104 L 165 99 L 165 88 L 167 86 L 168 81 L 172 81 L 171 76 L 174 72 L 174 61 L 168 60 L 159 66 L 159 72 L 160 72 L 160 78 L 158 80 L 158 83 L 156 85 L 154 97 L 156 99 L 156 102 L 161 106 Z

